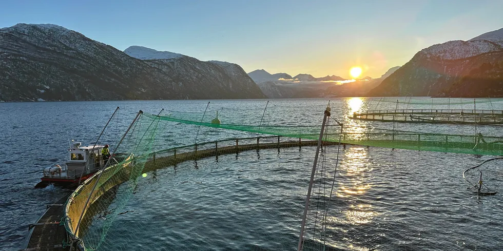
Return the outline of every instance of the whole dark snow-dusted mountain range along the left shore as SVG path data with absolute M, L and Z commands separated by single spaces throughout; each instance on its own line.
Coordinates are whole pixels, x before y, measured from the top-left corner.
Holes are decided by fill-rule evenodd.
M 264 97 L 241 67 L 189 59 L 139 60 L 61 26 L 17 24 L 0 29 L 0 100 Z

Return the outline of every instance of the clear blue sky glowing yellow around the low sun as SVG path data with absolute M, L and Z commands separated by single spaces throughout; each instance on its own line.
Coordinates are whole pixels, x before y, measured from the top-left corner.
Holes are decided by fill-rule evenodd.
M 378 78 L 416 52 L 503 28 L 503 0 L 20 1 L 0 27 L 57 24 L 124 50 L 131 45 L 292 76 Z

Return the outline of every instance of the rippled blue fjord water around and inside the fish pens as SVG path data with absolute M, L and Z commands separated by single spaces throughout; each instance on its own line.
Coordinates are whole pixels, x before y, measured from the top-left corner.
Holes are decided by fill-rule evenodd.
M 451 99 L 452 100 L 452 99 Z M 63 163 L 68 148 L 68 140 L 74 139 L 83 142 L 84 145 L 94 143 L 103 125 L 106 123 L 115 107 L 120 106 L 118 117 L 111 122 L 103 143 L 117 142 L 121 133 L 125 131 L 130 121 L 138 112 L 143 110 L 157 114 L 161 108 L 178 111 L 204 111 L 208 101 L 114 101 L 114 102 L 38 102 L 38 103 L 0 103 L 0 250 L 15 250 L 22 246 L 24 238 L 28 234 L 28 225 L 34 223 L 41 216 L 45 204 L 59 200 L 71 192 L 69 189 L 49 186 L 44 189 L 34 189 L 39 181 L 41 169 L 53 164 Z M 291 112 L 282 114 L 284 121 L 291 123 L 315 124 L 321 123 L 323 106 L 328 100 L 274 100 L 270 105 L 292 107 Z M 389 127 L 390 123 L 358 122 L 347 119 L 347 116 L 360 109 L 374 109 L 376 100 L 362 99 L 336 99 L 332 100 L 333 117 L 358 125 L 373 125 L 375 127 Z M 454 103 L 454 102 L 453 102 Z M 238 100 L 238 101 L 211 101 L 212 105 L 226 107 L 228 109 L 241 109 L 243 112 L 256 112 L 264 108 L 264 100 Z M 412 108 L 413 105 L 408 105 Z M 415 109 L 428 109 L 428 105 L 414 105 Z M 462 105 L 451 106 L 461 108 Z M 465 105 L 466 109 L 473 106 Z M 379 108 L 394 109 L 395 104 L 380 104 Z M 401 107 L 402 109 L 404 107 Z M 477 104 L 477 109 L 501 109 L 501 105 L 494 103 Z M 304 113 L 299 118 L 299 110 Z M 227 115 L 230 113 L 227 113 Z M 295 118 L 295 119 L 293 119 Z M 225 121 L 222 121 L 225 123 Z M 271 121 L 271 124 L 275 121 Z M 243 123 L 246 124 L 246 123 Z M 399 124 L 400 130 L 421 132 L 459 133 L 473 134 L 473 126 L 461 125 L 430 125 L 430 124 Z M 173 123 L 167 128 L 169 137 L 163 141 L 165 148 L 194 143 L 194 126 L 179 125 Z M 499 127 L 478 126 L 477 131 L 488 136 L 501 136 Z M 199 135 L 200 142 L 222 138 L 249 136 L 244 132 L 214 132 L 202 131 Z M 113 145 L 112 145 L 113 147 Z M 302 161 L 297 163 L 308 164 L 312 159 L 314 149 L 303 148 L 302 151 L 285 149 L 278 153 L 261 151 L 262 158 L 258 158 L 257 152 L 245 152 L 236 160 L 235 157 L 221 156 L 219 161 L 205 159 L 198 163 L 198 169 L 194 169 L 192 163 L 184 163 L 177 169 L 176 176 L 173 169 L 160 170 L 156 180 L 150 175 L 141 181 L 139 190 L 126 206 L 134 214 L 124 214 L 118 217 L 120 224 L 114 224 L 114 229 L 134 229 L 141 226 L 136 222 L 141 217 L 135 218 L 136 214 L 150 214 L 154 217 L 164 217 L 162 222 L 176 221 L 193 217 L 195 213 L 202 215 L 211 212 L 219 214 L 216 208 L 221 208 L 218 203 L 246 203 L 246 192 L 267 195 L 278 195 L 276 199 L 267 197 L 268 203 L 274 200 L 282 201 L 282 192 L 296 192 L 305 194 L 307 166 L 299 166 L 292 182 L 284 179 L 284 171 L 296 163 L 296 158 Z M 334 153 L 334 149 L 330 150 Z M 300 157 L 299 157 L 300 155 Z M 332 158 L 332 159 L 330 159 Z M 328 167 L 333 166 L 334 156 L 328 159 Z M 498 250 L 501 249 L 501 231 L 503 226 L 503 214 L 501 213 L 501 194 L 496 196 L 477 198 L 466 191 L 461 172 L 463 169 L 476 165 L 490 157 L 478 157 L 471 155 L 459 155 L 452 153 L 421 152 L 409 150 L 391 150 L 384 148 L 366 148 L 352 146 L 342 151 L 340 173 L 338 177 L 338 192 L 341 201 L 334 204 L 335 217 L 338 220 L 333 228 L 336 242 L 332 243 L 343 249 L 367 250 L 380 245 L 382 250 L 404 250 L 409 248 L 418 250 Z M 183 168 L 186 166 L 186 168 Z M 272 167 L 275 168 L 272 168 Z M 262 167 L 250 168 L 250 167 Z M 216 168 L 218 170 L 216 170 Z M 237 168 L 237 169 L 236 169 Z M 265 168 L 265 169 L 264 169 Z M 292 168 L 295 170 L 295 168 Z M 222 170 L 231 172 L 245 170 L 243 175 L 254 176 L 253 171 L 269 171 L 269 178 L 278 186 L 272 191 L 263 191 L 256 187 L 253 179 L 245 179 L 236 182 L 236 187 L 227 186 L 225 179 L 237 178 L 238 175 L 230 175 Z M 263 176 L 263 173 L 261 174 Z M 194 196 L 191 200 L 191 190 L 201 190 L 200 184 L 211 177 L 215 180 L 215 186 L 206 187 L 199 197 Z M 282 178 L 283 177 L 283 178 Z M 299 183 L 295 179 L 301 179 Z M 185 182 L 185 183 L 183 183 Z M 198 183 L 201 182 L 201 183 Z M 184 185 L 175 185 L 183 183 Z M 190 186 L 192 185 L 192 186 Z M 270 185 L 269 185 L 270 186 Z M 495 187 L 494 187 L 495 186 Z M 363 191 L 358 193 L 357 187 Z M 199 188 L 199 189 L 198 189 Z M 356 189 L 356 194 L 354 189 Z M 501 184 L 494 184 L 492 188 L 503 188 Z M 279 189 L 279 190 L 278 190 Z M 220 190 L 221 192 L 218 192 Z M 361 190 L 361 189 L 360 189 Z M 165 192 L 162 192 L 165 191 Z M 167 191 L 167 192 L 166 192 Z M 188 193 L 188 194 L 187 194 Z M 169 194 L 171 200 L 167 200 Z M 182 195 L 183 198 L 181 197 Z M 182 205 L 198 205 L 203 201 L 208 203 L 204 210 L 199 207 L 180 207 L 181 198 L 185 202 Z M 264 197 L 265 198 L 265 197 Z M 301 197 L 297 198 L 301 200 Z M 188 201 L 187 201 L 188 200 Z M 217 203 L 218 202 L 218 203 Z M 291 201 L 298 203 L 299 201 Z M 264 202 L 265 203 L 265 202 Z M 290 203 L 283 201 L 283 203 Z M 255 208 L 262 208 L 257 205 Z M 361 207 L 360 207 L 361 206 Z M 159 208 L 171 208 L 171 210 L 156 210 Z M 176 214 L 172 208 L 177 208 Z M 262 209 L 264 209 L 262 208 Z M 359 209 L 360 208 L 360 209 Z M 187 210 L 186 210 L 187 209 Z M 254 210 L 254 207 L 250 208 Z M 220 211 L 225 213 L 225 211 Z M 288 212 L 286 212 L 288 213 Z M 297 214 L 298 212 L 290 212 Z M 219 235 L 208 240 L 204 229 L 198 235 L 185 233 L 187 224 L 179 224 L 179 229 L 172 226 L 148 227 L 138 231 L 138 240 L 134 248 L 142 246 L 142 242 L 171 243 L 192 249 L 252 249 L 250 245 L 260 246 L 264 249 L 278 249 L 277 246 L 261 246 L 261 243 L 250 243 L 246 235 L 249 235 L 251 226 L 257 229 L 270 228 L 273 223 L 249 219 L 246 216 L 236 217 L 236 224 L 230 223 L 212 229 Z M 343 216 L 343 217 L 339 217 Z M 214 217 L 217 217 L 218 215 Z M 264 217 L 265 219 L 266 217 Z M 200 225 L 215 226 L 214 222 L 201 217 Z M 234 218 L 233 218 L 234 219 Z M 300 221 L 300 219 L 299 219 Z M 335 221 L 335 219 L 334 219 Z M 159 222 L 158 222 L 159 223 Z M 239 224 L 238 224 L 239 223 Z M 256 225 L 259 224 L 259 225 Z M 286 220 L 275 222 L 278 227 L 277 243 L 285 250 L 295 248 L 295 235 L 297 235 L 299 222 Z M 240 228 L 242 227 L 242 228 Z M 161 230 L 159 230 L 161 229 Z M 229 229 L 238 229 L 234 235 L 227 235 Z M 376 230 L 378 229 L 378 230 Z M 115 231 L 114 230 L 114 231 Z M 208 230 L 208 229 L 206 229 Z M 417 233 L 416 233 L 417 231 Z M 212 232 L 211 232 L 212 233 Z M 148 237 L 157 236 L 155 239 Z M 182 236 L 176 238 L 177 236 Z M 221 239 L 218 239 L 221 237 Z M 188 243 L 187 238 L 193 240 Z M 199 240 L 197 238 L 200 238 Z M 183 243 L 177 243 L 176 241 Z M 482 241 L 481 241 L 482 240 Z M 117 249 L 125 240 L 120 238 L 106 244 L 103 248 Z M 213 244 L 211 244 L 213 243 Z M 225 246 L 225 243 L 229 246 Z M 291 245 L 290 243 L 293 243 Z M 360 248 L 360 249 L 358 249 Z M 281 249 L 281 248 L 280 248 Z

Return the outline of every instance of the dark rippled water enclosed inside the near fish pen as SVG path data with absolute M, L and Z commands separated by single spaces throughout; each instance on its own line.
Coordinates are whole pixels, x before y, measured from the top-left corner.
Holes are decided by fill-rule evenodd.
M 218 161 L 199 160 L 198 168 L 190 161 L 148 173 L 100 249 L 295 250 L 314 150 L 248 151 L 219 156 Z M 336 151 L 334 146 L 326 149 L 327 166 L 334 167 Z M 503 247 L 502 197 L 474 196 L 461 177 L 479 158 L 349 146 L 342 149 L 340 161 L 327 218 L 327 246 Z M 502 182 L 502 176 L 496 177 L 492 188 L 502 190 Z M 320 200 L 317 193 L 314 201 Z M 310 219 L 308 237 L 314 231 L 313 212 Z M 91 227 L 87 234 L 92 247 L 102 236 L 101 228 Z

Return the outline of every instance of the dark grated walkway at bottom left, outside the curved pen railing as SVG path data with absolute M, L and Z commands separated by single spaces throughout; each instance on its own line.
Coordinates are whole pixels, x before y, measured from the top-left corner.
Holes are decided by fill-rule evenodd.
M 60 224 L 64 216 L 65 202 L 69 195 L 61 198 L 54 204 L 47 205 L 44 215 L 35 224 L 29 226 L 30 234 L 24 245 L 25 248 L 21 249 L 21 251 L 70 250 L 70 247 L 66 245 L 68 236 L 65 225 Z

